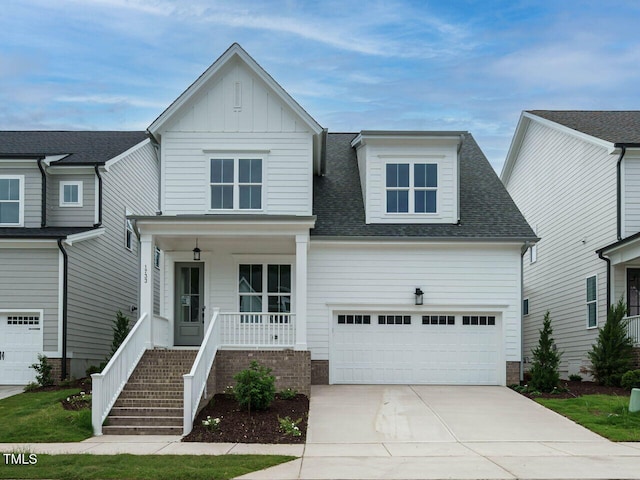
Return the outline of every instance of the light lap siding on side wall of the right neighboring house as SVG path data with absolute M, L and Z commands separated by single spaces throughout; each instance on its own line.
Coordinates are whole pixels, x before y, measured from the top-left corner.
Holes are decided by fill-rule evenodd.
M 588 363 L 598 334 L 587 328 L 587 277 L 597 275 L 598 325 L 606 321 L 606 263 L 595 251 L 616 240 L 615 164 L 605 148 L 532 121 L 506 185 L 541 237 L 537 261 L 523 259 L 523 355 L 531 361 L 549 311 L 565 377 Z

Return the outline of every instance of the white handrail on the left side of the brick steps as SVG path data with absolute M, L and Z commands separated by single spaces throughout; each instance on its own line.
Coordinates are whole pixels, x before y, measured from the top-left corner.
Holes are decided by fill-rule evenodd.
M 143 313 L 102 373 L 91 375 L 91 423 L 94 435 L 102 435 L 102 422 L 149 347 L 150 335 L 151 320 L 147 313 Z

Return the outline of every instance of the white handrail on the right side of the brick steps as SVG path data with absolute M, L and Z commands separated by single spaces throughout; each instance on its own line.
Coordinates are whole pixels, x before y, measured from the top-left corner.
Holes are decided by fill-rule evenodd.
M 184 379 L 184 419 L 183 434 L 188 435 L 193 429 L 193 419 L 198 413 L 198 404 L 204 395 L 207 396 L 207 381 L 213 361 L 220 345 L 219 308 L 213 310 L 207 331 L 193 362 L 191 371 L 182 376 Z

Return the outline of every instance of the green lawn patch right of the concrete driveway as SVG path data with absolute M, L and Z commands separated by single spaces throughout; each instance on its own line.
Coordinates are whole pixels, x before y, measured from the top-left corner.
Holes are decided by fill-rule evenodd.
M 640 441 L 640 412 L 629 413 L 629 397 L 584 395 L 536 402 L 614 442 Z

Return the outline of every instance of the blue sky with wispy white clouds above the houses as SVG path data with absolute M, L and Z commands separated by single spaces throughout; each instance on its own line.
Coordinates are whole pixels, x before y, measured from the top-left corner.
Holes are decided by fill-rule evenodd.
M 5 0 L 0 129 L 146 129 L 233 42 L 323 127 L 468 130 L 640 109 L 640 2 Z

